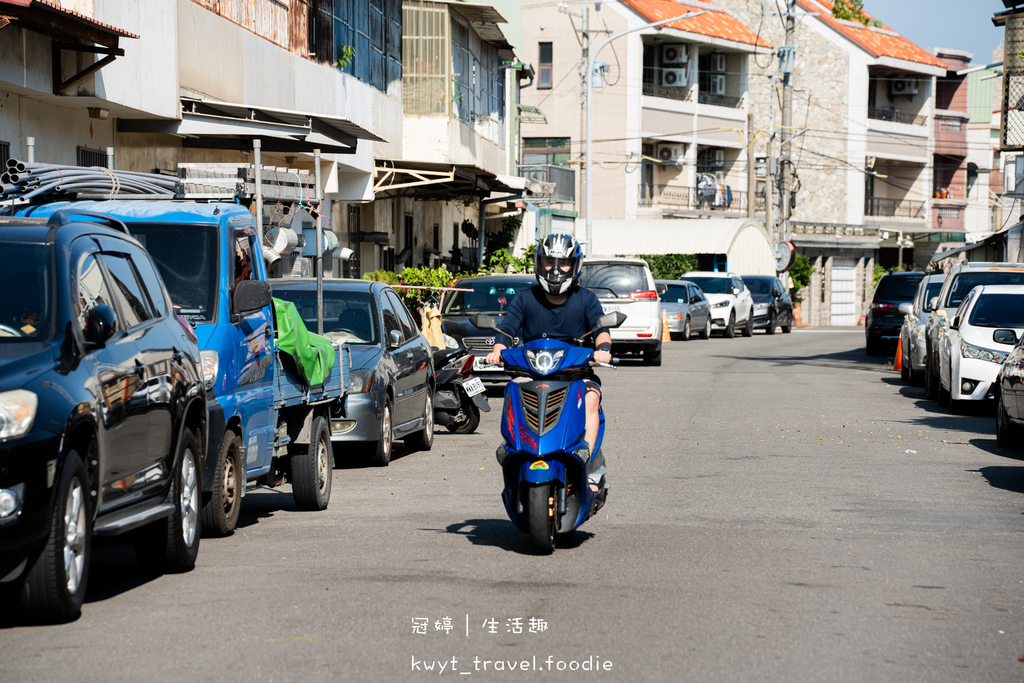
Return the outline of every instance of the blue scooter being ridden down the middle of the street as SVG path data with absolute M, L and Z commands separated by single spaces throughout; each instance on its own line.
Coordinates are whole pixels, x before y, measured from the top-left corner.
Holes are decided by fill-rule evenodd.
M 626 314 L 618 311 L 602 315 L 597 327 L 577 341 L 582 343 L 598 330 L 617 328 L 625 321 Z M 488 315 L 471 315 L 470 323 L 504 334 Z M 587 385 L 583 378 L 593 357 L 592 349 L 554 339 L 536 339 L 502 351 L 511 375 L 529 378 L 505 386 L 505 440 L 496 453 L 505 478 L 502 500 L 512 523 L 528 532 L 545 554 L 554 550 L 557 535 L 574 531 L 604 505 L 607 496 L 603 475 L 596 494 L 588 481 L 592 472 L 603 472 L 604 465 L 603 412 L 593 457 L 584 440 Z

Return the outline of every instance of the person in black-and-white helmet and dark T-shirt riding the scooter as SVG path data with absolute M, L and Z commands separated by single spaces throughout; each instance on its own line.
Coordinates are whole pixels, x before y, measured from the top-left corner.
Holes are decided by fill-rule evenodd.
M 524 342 L 549 338 L 575 344 L 577 339 L 594 329 L 604 310 L 593 292 L 580 287 L 582 261 L 583 250 L 575 238 L 562 233 L 546 237 L 538 245 L 534 256 L 534 274 L 538 284 L 512 299 L 502 321 L 502 333 Z M 501 352 L 505 348 L 505 344 L 496 340 L 486 361 L 500 364 Z M 594 338 L 594 360 L 611 362 L 610 350 L 611 334 L 602 329 Z M 520 378 L 515 381 L 525 380 Z M 593 371 L 584 382 L 587 385 L 584 440 L 594 456 L 589 478 L 591 488 L 596 492 L 605 471 L 603 455 L 594 454 L 600 425 L 601 382 Z

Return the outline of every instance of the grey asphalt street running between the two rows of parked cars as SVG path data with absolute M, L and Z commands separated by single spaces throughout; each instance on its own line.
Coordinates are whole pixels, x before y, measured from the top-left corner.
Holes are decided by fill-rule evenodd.
M 81 620 L 0 630 L 0 680 L 1024 679 L 1024 462 L 990 412 L 926 401 L 862 329 L 624 365 L 570 547 L 507 520 L 493 397 L 476 434 L 336 469 L 325 512 L 250 489 L 190 573 L 97 548 Z

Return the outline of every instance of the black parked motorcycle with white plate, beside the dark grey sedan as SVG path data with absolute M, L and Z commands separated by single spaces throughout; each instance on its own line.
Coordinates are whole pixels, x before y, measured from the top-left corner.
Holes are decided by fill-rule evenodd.
M 460 341 L 458 348 L 433 353 L 434 423 L 456 434 L 471 434 L 480 424 L 480 411 L 490 412 L 483 382 L 472 377 L 473 355 Z

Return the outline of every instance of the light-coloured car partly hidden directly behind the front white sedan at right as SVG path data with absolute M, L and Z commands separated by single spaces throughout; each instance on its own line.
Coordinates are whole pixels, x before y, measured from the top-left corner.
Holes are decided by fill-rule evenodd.
M 925 395 L 939 397 L 939 348 L 949 318 L 978 285 L 1024 285 L 1024 263 L 961 261 L 946 274 L 942 288 L 931 301 L 932 316 L 925 332 Z

